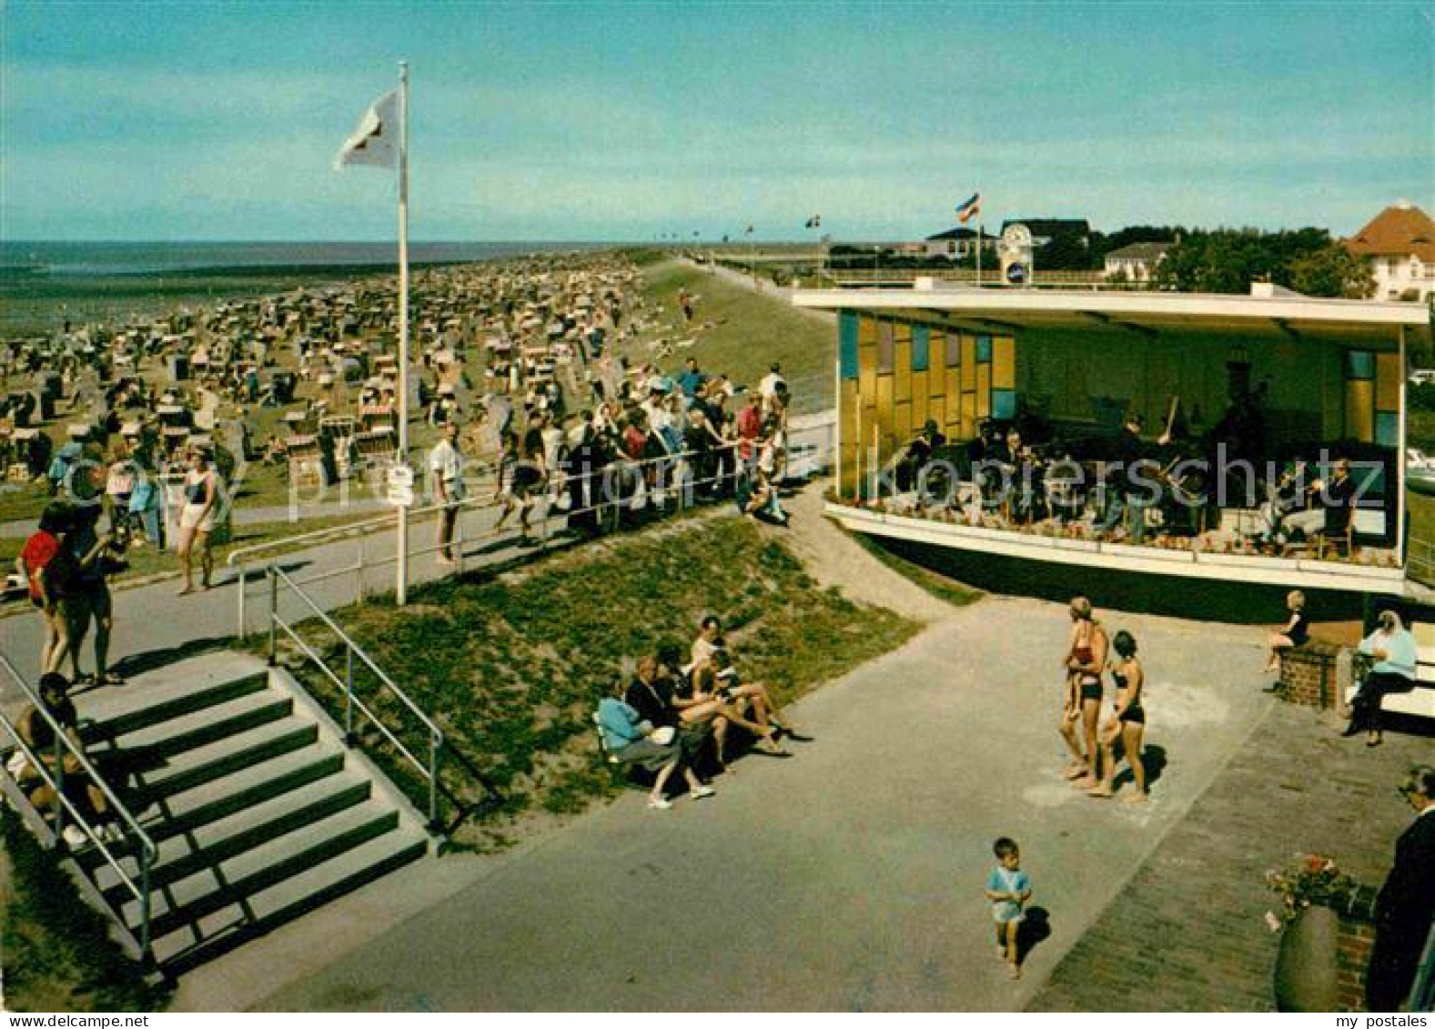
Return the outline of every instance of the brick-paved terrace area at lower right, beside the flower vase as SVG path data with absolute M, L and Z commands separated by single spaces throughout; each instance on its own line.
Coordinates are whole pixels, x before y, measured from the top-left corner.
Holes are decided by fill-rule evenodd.
M 1029 1010 L 1274 1010 L 1266 871 L 1327 854 L 1379 885 L 1412 817 L 1395 786 L 1431 756 L 1428 738 L 1386 733 L 1369 749 L 1335 733 L 1309 708 L 1276 705 Z

